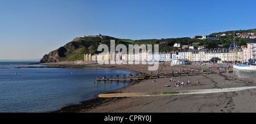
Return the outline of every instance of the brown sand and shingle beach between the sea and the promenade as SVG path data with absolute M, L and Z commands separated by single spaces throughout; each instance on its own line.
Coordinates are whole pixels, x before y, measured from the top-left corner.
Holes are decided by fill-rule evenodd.
M 49 63 L 48 63 L 49 64 Z M 56 64 L 56 63 L 55 63 Z M 65 64 L 65 63 L 62 63 Z M 86 68 L 115 68 L 150 74 L 148 66 L 151 65 L 100 65 L 88 64 Z M 217 66 L 217 65 L 216 65 Z M 171 73 L 193 69 L 205 75 L 177 76 L 176 81 L 170 81 L 171 76 L 165 78 L 152 78 L 147 80 L 133 81 L 128 86 L 107 93 L 148 93 L 148 92 L 175 92 L 181 90 L 198 89 L 224 89 L 255 86 L 256 77 L 238 78 L 233 75 L 232 68 L 229 73 L 224 68 L 217 73 L 217 68 L 209 70 L 210 64 L 174 65 L 160 63 L 158 71 Z M 158 71 L 152 71 L 153 74 Z M 172 77 L 174 80 L 174 77 Z M 182 81 L 191 81 L 191 84 L 174 86 Z M 197 83 L 200 81 L 200 84 Z M 101 83 L 101 82 L 99 82 Z M 168 86 L 167 86 L 168 85 Z M 245 89 L 234 92 L 204 93 L 204 94 L 179 94 L 163 96 L 141 96 L 141 97 L 96 97 L 92 100 L 81 102 L 62 108 L 56 113 L 254 113 L 256 111 L 256 89 Z

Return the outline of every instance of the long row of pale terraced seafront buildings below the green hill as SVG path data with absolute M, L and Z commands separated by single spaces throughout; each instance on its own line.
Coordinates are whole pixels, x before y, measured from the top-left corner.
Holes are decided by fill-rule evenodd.
M 180 51 L 141 51 L 138 53 L 108 52 L 94 55 L 84 55 L 85 61 L 240 61 L 242 63 L 256 59 L 256 38 L 247 43 L 246 47 L 237 49 L 181 49 Z

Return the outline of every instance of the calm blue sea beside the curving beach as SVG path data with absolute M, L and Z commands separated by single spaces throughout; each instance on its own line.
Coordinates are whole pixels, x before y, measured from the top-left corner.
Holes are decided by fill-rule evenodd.
M 0 113 L 48 113 L 80 104 L 130 81 L 96 81 L 134 72 L 110 68 L 27 68 L 36 61 L 0 62 Z M 47 65 L 48 66 L 48 65 Z

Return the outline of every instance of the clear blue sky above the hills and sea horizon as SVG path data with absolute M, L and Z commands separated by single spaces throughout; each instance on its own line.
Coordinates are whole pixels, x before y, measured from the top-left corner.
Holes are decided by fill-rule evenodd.
M 256 28 L 256 1 L 0 0 L 0 60 L 41 59 L 73 39 L 192 38 Z

